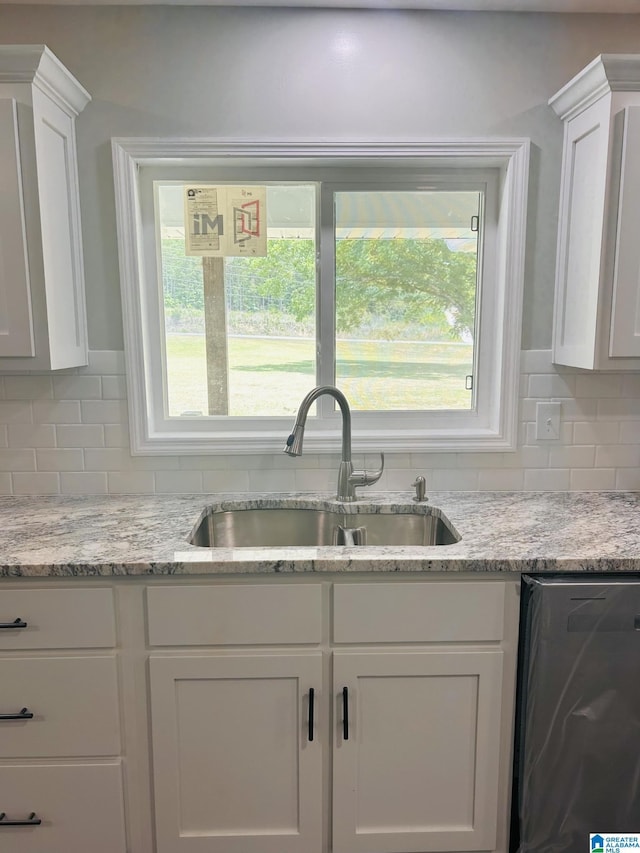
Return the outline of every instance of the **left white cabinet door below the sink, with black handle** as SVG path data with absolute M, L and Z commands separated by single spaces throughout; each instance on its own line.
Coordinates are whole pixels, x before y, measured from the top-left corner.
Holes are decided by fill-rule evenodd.
M 150 659 L 157 853 L 314 853 L 322 654 Z

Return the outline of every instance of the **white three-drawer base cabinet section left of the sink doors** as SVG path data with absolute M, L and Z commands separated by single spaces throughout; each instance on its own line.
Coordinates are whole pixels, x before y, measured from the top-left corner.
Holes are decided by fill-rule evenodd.
M 115 642 L 111 589 L 3 589 L 0 849 L 128 853 Z

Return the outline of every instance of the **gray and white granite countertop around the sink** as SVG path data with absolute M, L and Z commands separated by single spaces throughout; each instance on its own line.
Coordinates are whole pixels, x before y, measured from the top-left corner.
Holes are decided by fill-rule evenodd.
M 352 513 L 444 513 L 459 542 L 430 547 L 202 548 L 205 508 L 265 499 Z M 0 577 L 293 572 L 639 571 L 640 493 L 439 492 L 0 498 Z

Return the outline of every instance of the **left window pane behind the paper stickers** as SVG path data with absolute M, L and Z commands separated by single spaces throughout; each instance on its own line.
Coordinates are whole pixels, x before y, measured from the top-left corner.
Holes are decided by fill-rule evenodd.
M 316 187 L 267 187 L 267 256 L 185 255 L 182 184 L 156 184 L 166 414 L 293 414 L 316 381 Z

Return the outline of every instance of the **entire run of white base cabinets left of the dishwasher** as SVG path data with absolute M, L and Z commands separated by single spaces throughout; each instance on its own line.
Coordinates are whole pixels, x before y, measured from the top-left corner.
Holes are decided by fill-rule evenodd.
M 0 849 L 507 853 L 519 578 L 11 581 Z

